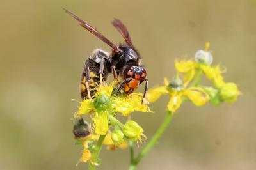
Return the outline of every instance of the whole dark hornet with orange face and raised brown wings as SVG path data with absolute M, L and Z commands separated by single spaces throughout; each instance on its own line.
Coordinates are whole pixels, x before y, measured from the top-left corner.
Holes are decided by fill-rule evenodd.
M 68 10 L 65 10 L 65 12 L 76 19 L 82 27 L 112 48 L 110 54 L 96 49 L 90 58 L 86 60 L 80 83 L 81 97 L 83 99 L 91 98 L 96 91 L 95 87 L 102 85 L 102 81 L 106 81 L 108 73 L 113 73 L 116 82 L 118 82 L 118 75 L 121 75 L 123 79 L 121 84 L 118 82 L 120 84 L 117 90 L 118 93 L 123 89 L 124 93 L 130 94 L 145 81 L 144 98 L 148 86 L 147 72 L 141 64 L 140 54 L 132 44 L 127 27 L 118 19 L 112 22 L 125 40 L 124 45 L 116 46 L 95 28 L 74 15 L 74 13 Z

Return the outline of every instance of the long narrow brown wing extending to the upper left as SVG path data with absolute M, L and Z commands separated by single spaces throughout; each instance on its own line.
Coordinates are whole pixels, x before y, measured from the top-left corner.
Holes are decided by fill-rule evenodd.
M 82 19 L 80 19 L 79 17 L 77 17 L 76 15 L 74 15 L 74 13 L 66 10 L 65 8 L 63 8 L 63 10 L 65 10 L 65 12 L 67 12 L 69 15 L 71 15 L 74 19 L 76 19 L 79 24 L 84 27 L 85 29 L 87 29 L 88 31 L 90 31 L 93 35 L 97 36 L 98 38 L 100 38 L 100 40 L 102 40 L 103 42 L 107 43 L 113 50 L 115 50 L 116 52 L 119 52 L 120 49 L 110 40 L 108 40 L 108 38 L 106 38 L 104 35 L 102 35 L 99 31 L 97 31 L 97 29 L 94 29 L 92 26 L 90 26 L 89 24 L 87 24 L 86 22 L 84 22 Z

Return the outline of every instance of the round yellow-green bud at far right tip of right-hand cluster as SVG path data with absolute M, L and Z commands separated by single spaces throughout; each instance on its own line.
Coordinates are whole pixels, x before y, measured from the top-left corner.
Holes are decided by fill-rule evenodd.
M 238 90 L 237 85 L 232 82 L 228 82 L 220 88 L 221 100 L 225 102 L 235 102 L 239 95 L 241 95 L 241 92 Z

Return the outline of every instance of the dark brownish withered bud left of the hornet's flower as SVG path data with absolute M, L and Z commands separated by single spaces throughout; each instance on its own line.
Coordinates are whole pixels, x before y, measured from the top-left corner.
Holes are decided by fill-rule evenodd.
M 83 118 L 79 118 L 74 124 L 73 134 L 76 139 L 90 135 L 90 125 Z

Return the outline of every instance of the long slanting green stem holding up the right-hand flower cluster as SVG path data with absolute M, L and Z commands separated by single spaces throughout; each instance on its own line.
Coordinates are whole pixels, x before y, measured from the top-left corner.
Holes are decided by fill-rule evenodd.
M 148 151 L 150 151 L 154 146 L 154 144 L 157 143 L 157 141 L 163 134 L 164 130 L 168 127 L 170 121 L 172 120 L 172 116 L 173 116 L 173 112 L 168 111 L 166 114 L 166 117 L 164 118 L 163 123 L 158 128 L 156 134 L 152 137 L 152 139 L 150 139 L 149 143 L 145 146 L 145 148 L 143 148 L 141 153 L 136 158 L 134 158 L 134 160 L 132 161 L 132 164 L 129 167 L 129 170 L 136 169 L 136 166 L 145 157 L 145 155 L 147 155 Z

